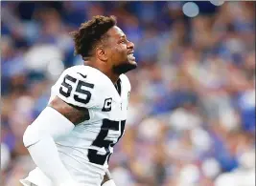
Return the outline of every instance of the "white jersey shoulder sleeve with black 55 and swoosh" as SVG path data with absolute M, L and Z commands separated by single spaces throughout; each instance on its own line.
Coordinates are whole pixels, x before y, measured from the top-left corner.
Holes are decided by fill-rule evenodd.
M 96 107 L 95 93 L 97 87 L 93 77 L 86 72 L 69 68 L 62 72 L 52 87 L 51 98 L 56 95 L 64 102 L 79 108 Z

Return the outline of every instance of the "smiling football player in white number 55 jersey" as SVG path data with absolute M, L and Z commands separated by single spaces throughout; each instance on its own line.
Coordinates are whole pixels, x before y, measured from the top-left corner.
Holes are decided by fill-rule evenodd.
M 48 106 L 23 135 L 36 164 L 20 180 L 25 186 L 115 186 L 108 160 L 125 131 L 124 73 L 137 67 L 134 45 L 113 16 L 94 16 L 71 35 L 84 64 L 62 72 Z

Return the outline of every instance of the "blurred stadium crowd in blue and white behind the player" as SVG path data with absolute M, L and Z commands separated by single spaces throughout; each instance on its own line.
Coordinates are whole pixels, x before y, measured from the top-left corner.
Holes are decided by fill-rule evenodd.
M 255 7 L 197 2 L 1 2 L 1 185 L 35 167 L 22 143 L 60 72 L 81 64 L 69 31 L 113 14 L 139 68 L 126 134 L 110 158 L 117 186 L 255 185 Z

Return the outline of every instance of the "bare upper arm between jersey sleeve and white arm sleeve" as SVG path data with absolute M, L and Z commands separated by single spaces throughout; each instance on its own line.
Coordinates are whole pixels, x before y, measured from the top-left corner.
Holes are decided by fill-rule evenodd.
M 58 96 L 56 96 L 48 106 L 58 111 L 58 113 L 64 115 L 74 125 L 89 119 L 89 112 L 87 109 L 71 106 L 70 104 L 67 104 L 62 99 L 60 99 Z

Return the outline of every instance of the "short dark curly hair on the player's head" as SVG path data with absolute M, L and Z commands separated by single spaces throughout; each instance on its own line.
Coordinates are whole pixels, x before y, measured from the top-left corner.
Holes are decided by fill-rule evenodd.
M 105 37 L 105 32 L 116 25 L 115 16 L 93 16 L 91 20 L 81 24 L 77 31 L 70 34 L 75 42 L 75 54 L 81 54 L 82 58 L 91 56 L 95 49 Z

